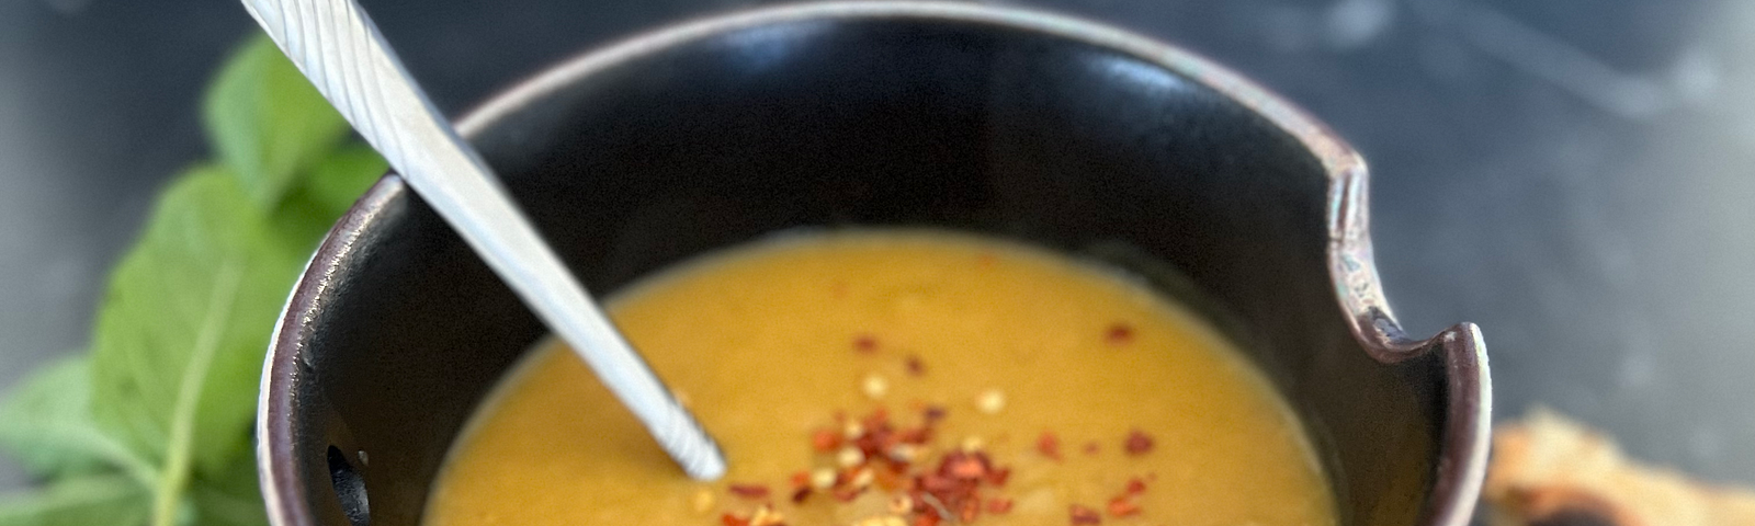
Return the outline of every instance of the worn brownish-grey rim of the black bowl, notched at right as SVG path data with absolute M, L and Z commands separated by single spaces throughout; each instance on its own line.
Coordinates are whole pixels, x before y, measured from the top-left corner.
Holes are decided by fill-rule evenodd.
M 1458 323 L 1430 338 L 1409 337 L 1390 310 L 1378 277 L 1371 247 L 1367 200 L 1369 170 L 1365 160 L 1297 105 L 1250 79 L 1192 51 L 1164 44 L 1099 21 L 1011 5 L 983 5 L 944 0 L 848 0 L 756 7 L 728 14 L 709 14 L 665 25 L 604 47 L 586 49 L 507 89 L 458 119 L 458 132 L 472 137 L 502 117 L 609 67 L 648 56 L 704 37 L 744 28 L 807 19 L 925 19 L 990 25 L 1027 33 L 1076 40 L 1134 56 L 1260 114 L 1293 137 L 1322 163 L 1329 179 L 1327 265 L 1336 300 L 1346 314 L 1348 328 L 1376 361 L 1393 365 L 1409 358 L 1441 352 L 1446 370 L 1444 426 L 1434 473 L 1434 486 L 1418 524 L 1465 526 L 1474 514 L 1486 473 L 1492 428 L 1492 379 L 1481 331 L 1472 323 Z M 377 181 L 323 238 L 293 286 L 286 307 L 274 326 L 263 359 L 261 389 L 256 409 L 256 463 L 269 522 L 274 526 L 316 524 L 304 494 L 295 458 L 295 396 L 298 352 L 312 312 L 323 303 L 340 259 L 353 252 L 365 226 L 376 221 L 386 203 L 402 196 L 407 186 L 390 174 Z M 290 507 L 290 503 L 295 503 Z

